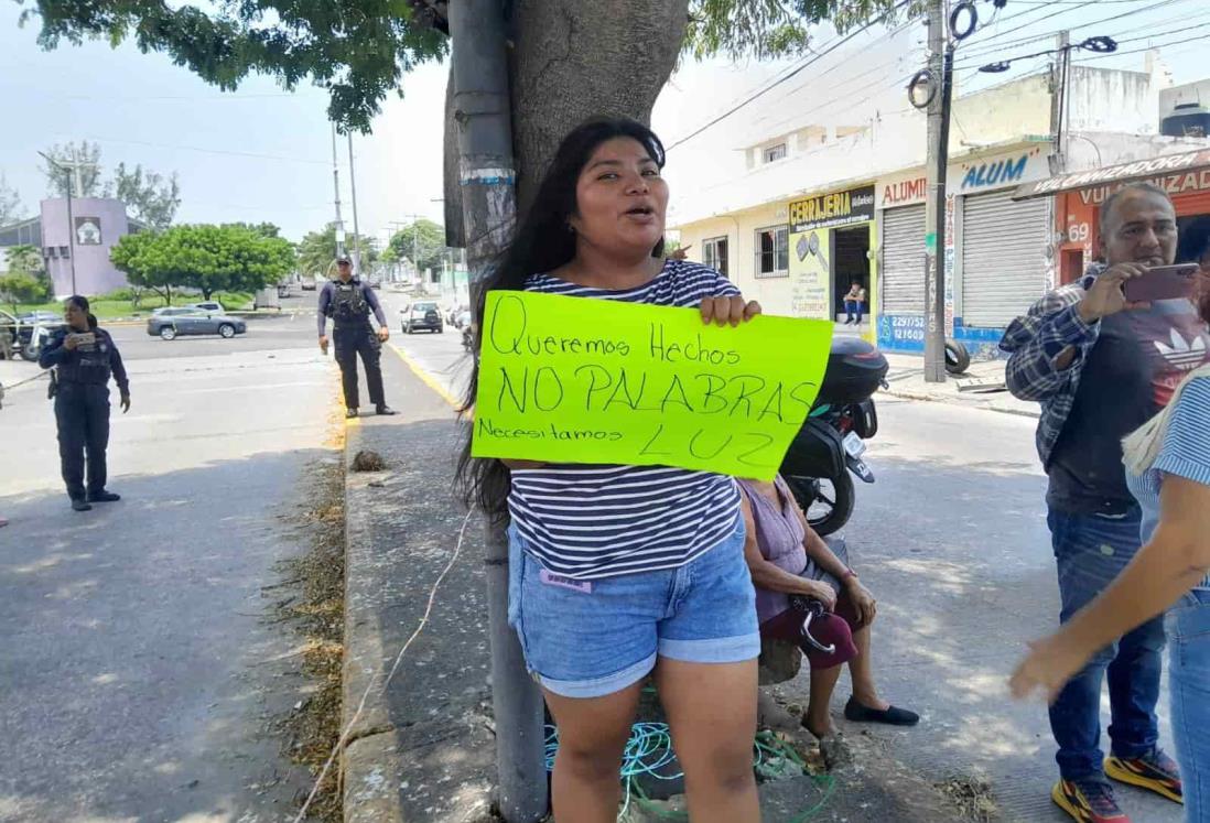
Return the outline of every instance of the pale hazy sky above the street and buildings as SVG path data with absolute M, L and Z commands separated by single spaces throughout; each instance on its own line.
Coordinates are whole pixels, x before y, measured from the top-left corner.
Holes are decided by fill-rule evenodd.
M 978 8 L 987 16 L 990 4 Z M 142 163 L 177 172 L 183 223 L 276 223 L 300 238 L 333 219 L 332 130 L 324 93 L 310 85 L 284 92 L 275 80 L 249 77 L 220 92 L 162 54 L 133 45 L 63 45 L 45 52 L 36 27 L 17 24 L 21 6 L 0 4 L 0 172 L 22 196 L 27 213 L 47 185 L 36 151 L 87 139 L 102 146 L 102 166 Z M 1008 74 L 980 74 L 984 62 L 1049 48 L 1054 33 L 1070 28 L 1073 41 L 1111 35 L 1120 56 L 1090 63 L 1142 70 L 1147 46 L 1159 46 L 1174 82 L 1210 76 L 1205 50 L 1210 4 L 1205 0 L 1008 0 L 995 21 L 983 21 L 957 52 L 958 86 L 969 92 L 1044 68 L 1039 57 L 1013 64 Z M 874 27 L 837 45 L 819 27 L 817 56 L 797 61 L 686 61 L 664 88 L 652 115 L 669 151 L 667 175 L 676 191 L 705 175 L 738 168 L 737 149 L 761 130 L 797 117 L 843 122 L 905 105 L 904 80 L 923 64 L 926 29 L 920 23 L 888 30 Z M 1187 41 L 1187 42 L 1182 42 Z M 836 46 L 835 51 L 829 51 Z M 825 53 L 826 52 L 826 53 Z M 1087 54 L 1077 54 L 1081 61 Z M 745 97 L 797 74 L 701 134 L 681 140 Z M 446 68 L 422 65 L 404 79 L 405 97 L 384 103 L 373 134 L 353 138 L 358 223 L 362 234 L 385 240 L 392 221 L 419 214 L 440 220 L 442 107 Z M 1210 103 L 1210 102 L 1208 102 Z M 788 110 L 790 107 L 791 110 Z M 802 113 L 793 109 L 803 108 Z M 338 142 L 341 207 L 352 229 L 348 144 Z

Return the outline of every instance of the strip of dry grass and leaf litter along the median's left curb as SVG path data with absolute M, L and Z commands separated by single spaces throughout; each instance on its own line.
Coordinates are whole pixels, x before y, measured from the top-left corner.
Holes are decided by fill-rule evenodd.
M 278 605 L 280 620 L 304 640 L 302 672 L 312 691 L 282 721 L 283 753 L 318 776 L 340 737 L 341 672 L 345 657 L 345 478 L 342 462 L 321 465 L 312 476 L 313 506 L 302 516 L 311 542 L 306 554 L 282 564 L 294 597 Z M 299 798 L 301 806 L 305 794 Z M 309 819 L 342 819 L 339 769 L 328 770 Z

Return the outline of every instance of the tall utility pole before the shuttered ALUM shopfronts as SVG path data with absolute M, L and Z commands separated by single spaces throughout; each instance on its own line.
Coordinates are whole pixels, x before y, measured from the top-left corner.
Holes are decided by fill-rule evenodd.
M 928 160 L 924 200 L 924 381 L 945 382 L 945 167 L 950 161 L 953 46 L 945 0 L 928 4 Z

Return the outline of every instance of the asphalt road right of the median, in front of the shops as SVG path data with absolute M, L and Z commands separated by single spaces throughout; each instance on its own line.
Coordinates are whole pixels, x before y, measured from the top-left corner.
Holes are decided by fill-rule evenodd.
M 460 393 L 468 361 L 459 336 L 416 334 L 394 344 L 430 380 Z M 887 396 L 878 414 L 866 454 L 876 482 L 858 483 L 843 536 L 878 597 L 874 654 L 883 696 L 923 721 L 872 732 L 846 724 L 845 675 L 834 704 L 839 725 L 848 735 L 874 733 L 934 782 L 989 781 L 1004 821 L 1068 821 L 1049 800 L 1058 771 L 1045 707 L 1014 703 L 1007 687 L 1026 640 L 1051 631 L 1059 614 L 1036 421 Z M 805 704 L 806 668 L 778 689 Z M 1107 726 L 1107 698 L 1104 709 Z M 1165 684 L 1162 742 L 1171 747 L 1166 714 Z M 1141 823 L 1182 819 L 1179 806 L 1141 790 L 1118 794 Z

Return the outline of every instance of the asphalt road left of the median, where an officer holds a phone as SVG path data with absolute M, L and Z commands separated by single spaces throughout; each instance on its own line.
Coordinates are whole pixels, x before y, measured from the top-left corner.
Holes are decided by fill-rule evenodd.
M 87 513 L 68 507 L 45 382 L 7 393 L 0 821 L 290 819 L 309 782 L 270 726 L 307 685 L 261 587 L 305 547 L 306 468 L 339 459 L 313 323 L 171 343 L 114 327 L 133 396 L 109 450 L 122 500 Z

